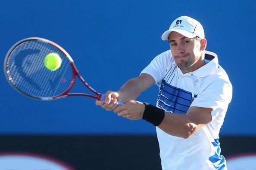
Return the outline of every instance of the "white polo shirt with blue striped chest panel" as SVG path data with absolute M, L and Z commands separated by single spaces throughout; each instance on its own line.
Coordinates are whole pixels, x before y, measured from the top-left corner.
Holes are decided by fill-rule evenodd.
M 141 72 L 155 79 L 159 86 L 156 106 L 166 112 L 186 114 L 191 106 L 213 109 L 212 121 L 187 139 L 156 127 L 163 170 L 226 170 L 219 131 L 231 102 L 232 85 L 216 54 L 206 51 L 205 61 L 203 67 L 183 74 L 168 50 Z

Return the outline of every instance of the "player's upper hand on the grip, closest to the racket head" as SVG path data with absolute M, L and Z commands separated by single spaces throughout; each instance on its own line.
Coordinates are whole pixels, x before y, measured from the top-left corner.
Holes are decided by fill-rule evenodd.
M 118 105 L 119 93 L 116 91 L 107 91 L 105 94 L 105 100 L 96 100 L 96 105 L 101 106 L 108 111 L 113 110 Z

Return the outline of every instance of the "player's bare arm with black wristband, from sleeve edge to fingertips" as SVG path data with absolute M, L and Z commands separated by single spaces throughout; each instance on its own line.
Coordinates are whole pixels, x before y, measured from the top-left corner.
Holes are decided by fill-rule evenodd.
M 130 120 L 143 118 L 156 125 L 167 134 L 176 137 L 188 138 L 196 133 L 203 125 L 212 121 L 212 108 L 192 106 L 187 114 L 164 112 L 152 105 L 145 106 L 144 103 L 129 100 L 125 105 L 114 109 L 119 116 Z

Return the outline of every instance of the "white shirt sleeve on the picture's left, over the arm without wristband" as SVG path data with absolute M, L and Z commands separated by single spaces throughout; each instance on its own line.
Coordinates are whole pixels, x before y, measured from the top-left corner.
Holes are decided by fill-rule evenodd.
M 152 76 L 153 79 L 155 79 L 156 85 L 159 86 L 165 76 L 167 67 L 171 63 L 171 56 L 170 50 L 159 54 L 147 67 L 144 68 L 144 70 L 142 70 L 141 73 L 147 73 Z

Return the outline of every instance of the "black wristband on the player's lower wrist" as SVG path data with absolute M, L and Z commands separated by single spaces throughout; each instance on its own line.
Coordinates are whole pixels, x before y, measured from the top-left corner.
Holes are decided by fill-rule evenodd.
M 163 118 L 165 117 L 165 111 L 157 108 L 149 103 L 144 103 L 145 110 L 142 116 L 142 119 L 152 123 L 155 126 L 158 126 Z

